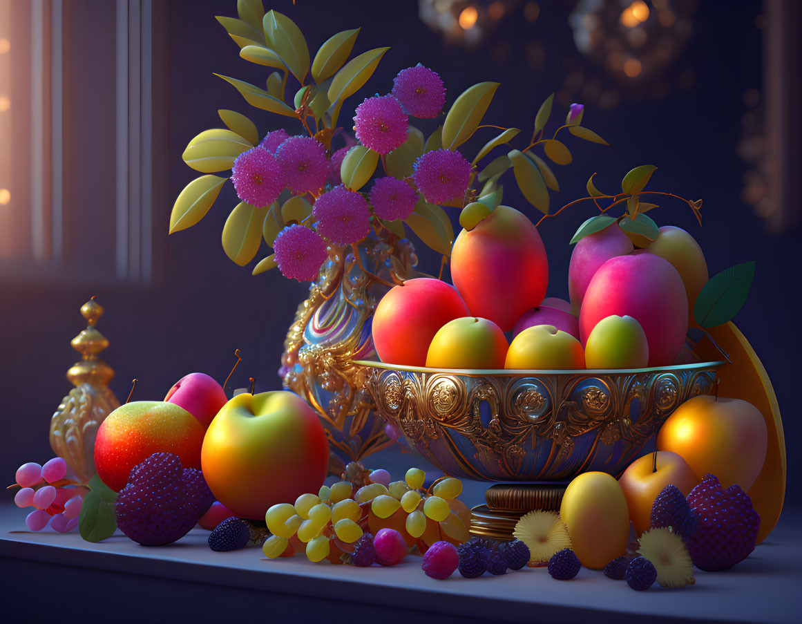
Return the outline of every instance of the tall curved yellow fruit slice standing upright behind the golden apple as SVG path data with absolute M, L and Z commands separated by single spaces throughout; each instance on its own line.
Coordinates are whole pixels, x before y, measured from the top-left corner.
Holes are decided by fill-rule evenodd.
M 759 544 L 777 524 L 785 499 L 785 437 L 780 406 L 777 405 L 777 397 L 766 369 L 740 330 L 732 322 L 726 322 L 711 327 L 708 331 L 732 362 L 719 370 L 719 395 L 748 401 L 766 419 L 766 462 L 748 492 L 752 506 L 760 516 L 757 536 Z M 705 362 L 720 359 L 718 350 L 705 338 L 699 341 L 695 353 Z

